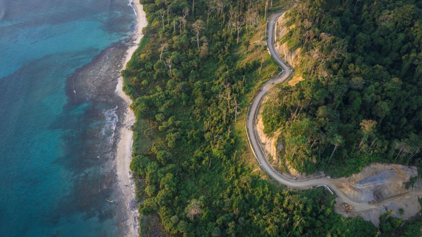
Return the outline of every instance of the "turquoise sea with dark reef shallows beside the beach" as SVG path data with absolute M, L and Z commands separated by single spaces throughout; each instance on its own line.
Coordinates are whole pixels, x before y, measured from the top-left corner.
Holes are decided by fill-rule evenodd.
M 122 233 L 105 201 L 119 195 L 116 78 L 87 72 L 121 60 L 136 21 L 128 3 L 0 0 L 0 236 Z

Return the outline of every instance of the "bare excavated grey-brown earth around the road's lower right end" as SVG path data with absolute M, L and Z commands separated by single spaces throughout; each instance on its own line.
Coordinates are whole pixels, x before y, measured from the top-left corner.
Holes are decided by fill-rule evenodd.
M 342 189 L 350 199 L 359 203 L 376 204 L 380 201 L 390 199 L 391 201 L 380 205 L 378 208 L 357 210 L 349 208 L 347 204 L 340 203 L 340 200 L 337 200 L 335 211 L 345 217 L 360 216 L 376 226 L 380 224 L 379 217 L 388 210 L 393 210 L 395 217 L 407 220 L 416 215 L 421 208 L 416 196 L 406 195 L 409 193 L 409 190 L 406 189 L 406 182 L 416 175 L 416 167 L 401 164 L 370 164 L 358 174 L 337 179 L 338 182 L 335 185 Z M 403 198 L 394 199 L 394 197 L 403 194 L 405 194 Z M 403 214 L 399 209 L 404 210 Z

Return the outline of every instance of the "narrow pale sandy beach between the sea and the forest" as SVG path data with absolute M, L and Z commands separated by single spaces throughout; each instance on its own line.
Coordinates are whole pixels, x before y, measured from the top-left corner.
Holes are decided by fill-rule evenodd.
M 131 45 L 127 52 L 125 61 L 123 63 L 123 68 L 126 66 L 126 63 L 130 60 L 132 54 L 138 48 L 139 42 L 141 41 L 143 34 L 142 29 L 147 25 L 147 20 L 143 6 L 139 3 L 139 0 L 134 0 L 132 6 L 136 9 L 136 14 L 138 17 L 138 27 L 134 37 L 134 43 Z M 123 92 L 123 78 L 120 77 L 116 92 L 119 96 L 126 102 L 127 111 L 124 115 L 123 126 L 120 129 L 120 137 L 117 145 L 117 157 L 116 157 L 116 170 L 117 176 L 120 182 L 121 191 L 123 194 L 122 202 L 127 207 L 125 209 L 127 220 L 127 234 L 126 236 L 138 236 L 138 208 L 134 205 L 135 200 L 135 184 L 131 179 L 130 172 L 130 161 L 132 159 L 132 144 L 133 144 L 133 132 L 130 130 L 130 126 L 135 123 L 134 112 L 129 108 L 129 105 L 132 103 L 129 96 Z M 132 203 L 132 205 L 130 205 Z

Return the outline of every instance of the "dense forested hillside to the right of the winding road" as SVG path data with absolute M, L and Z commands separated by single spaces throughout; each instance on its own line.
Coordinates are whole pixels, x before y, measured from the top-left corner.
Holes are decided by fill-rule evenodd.
M 350 175 L 371 162 L 422 162 L 422 1 L 299 1 L 281 41 L 296 74 L 264 105 L 281 159 Z

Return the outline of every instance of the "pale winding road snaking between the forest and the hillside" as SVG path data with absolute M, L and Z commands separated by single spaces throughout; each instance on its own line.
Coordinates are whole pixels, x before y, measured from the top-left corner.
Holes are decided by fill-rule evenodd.
M 261 86 L 258 94 L 255 96 L 251 105 L 249 106 L 247 120 L 246 120 L 246 131 L 247 131 L 247 134 L 248 134 L 249 144 L 251 146 L 251 149 L 252 149 L 256 159 L 258 160 L 258 163 L 259 163 L 259 166 L 261 167 L 261 169 L 265 173 L 267 173 L 271 178 L 275 179 L 277 182 L 282 183 L 282 184 L 289 186 L 289 187 L 304 189 L 304 188 L 310 188 L 310 187 L 314 187 L 314 186 L 318 186 L 318 185 L 325 185 L 325 186 L 329 187 L 331 191 L 335 192 L 336 195 L 343 202 L 346 202 L 346 203 L 350 204 L 351 206 L 353 206 L 354 210 L 364 210 L 364 209 L 375 208 L 375 207 L 379 207 L 380 205 L 382 205 L 383 203 L 385 203 L 387 201 L 391 201 L 393 199 L 403 199 L 403 198 L 411 196 L 411 195 L 409 195 L 409 193 L 407 193 L 407 194 L 403 194 L 403 195 L 400 195 L 400 196 L 397 196 L 397 197 L 394 197 L 394 198 L 391 198 L 391 199 L 388 199 L 388 200 L 384 200 L 384 201 L 378 202 L 378 203 L 372 203 L 372 204 L 358 203 L 358 202 L 354 202 L 354 201 L 350 200 L 347 195 L 345 195 L 343 192 L 341 192 L 340 189 L 338 189 L 334 185 L 335 183 L 340 182 L 339 180 L 329 179 L 326 176 L 319 176 L 319 177 L 314 177 L 314 178 L 310 178 L 310 179 L 306 179 L 306 180 L 292 180 L 292 179 L 289 179 L 288 177 L 283 176 L 280 172 L 276 171 L 271 166 L 270 162 L 268 161 L 268 158 L 265 155 L 264 149 L 262 148 L 262 146 L 259 142 L 255 122 L 256 122 L 256 118 L 257 118 L 257 115 L 258 115 L 259 108 L 261 106 L 262 99 L 265 97 L 266 93 L 268 93 L 268 91 L 275 84 L 285 82 L 292 75 L 292 70 L 291 70 L 290 66 L 288 66 L 287 64 L 285 64 L 283 62 L 283 60 L 281 60 L 280 56 L 278 55 L 278 53 L 274 49 L 274 25 L 275 25 L 275 21 L 277 20 L 277 18 L 282 13 L 283 12 L 275 13 L 275 14 L 273 14 L 269 17 L 268 23 L 267 23 L 267 26 L 266 26 L 266 32 L 267 32 L 267 35 L 269 37 L 266 40 L 266 43 L 268 45 L 268 49 L 270 51 L 271 56 L 273 57 L 274 60 L 277 61 L 277 63 L 281 66 L 281 68 L 284 70 L 284 72 L 281 73 L 280 76 L 278 76 L 274 79 L 271 79 L 270 81 L 266 82 L 264 85 Z M 342 180 L 342 181 L 345 181 L 345 180 Z M 412 192 L 411 194 L 412 195 L 422 195 L 422 191 Z

